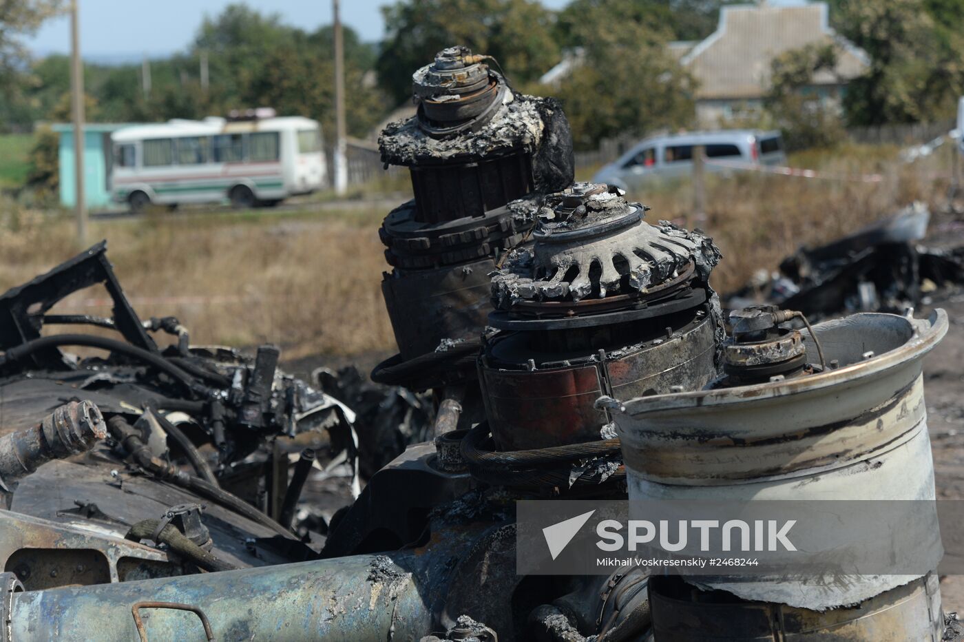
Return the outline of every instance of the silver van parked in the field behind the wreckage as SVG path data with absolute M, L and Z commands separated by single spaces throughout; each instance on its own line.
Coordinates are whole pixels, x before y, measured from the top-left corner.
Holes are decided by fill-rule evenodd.
M 693 147 L 703 146 L 707 172 L 733 171 L 741 164 L 786 165 L 783 137 L 778 131 L 724 129 L 653 136 L 637 143 L 618 160 L 593 176 L 631 191 L 657 178 L 693 173 Z

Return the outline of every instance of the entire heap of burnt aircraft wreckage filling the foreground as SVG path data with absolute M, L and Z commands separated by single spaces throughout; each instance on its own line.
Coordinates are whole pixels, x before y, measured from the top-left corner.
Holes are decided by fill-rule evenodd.
M 942 638 L 932 573 L 517 574 L 517 499 L 932 498 L 921 362 L 948 320 L 757 307 L 728 336 L 711 239 L 573 184 L 559 105 L 486 60 L 440 52 L 381 140 L 415 200 L 381 230 L 399 354 L 372 378 L 433 391 L 434 441 L 325 532 L 292 530 L 308 472 L 357 470 L 364 435 L 277 349 L 142 321 L 103 246 L 0 296 L 0 639 Z M 97 283 L 112 318 L 50 311 Z

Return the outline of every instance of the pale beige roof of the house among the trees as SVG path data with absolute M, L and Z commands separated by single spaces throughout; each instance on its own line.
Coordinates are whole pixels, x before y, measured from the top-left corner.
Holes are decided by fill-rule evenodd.
M 700 82 L 697 98 L 759 98 L 769 88 L 776 56 L 822 42 L 837 46 L 837 68 L 818 72 L 815 85 L 839 84 L 838 79 L 859 76 L 869 65 L 862 49 L 830 28 L 824 2 L 723 7 L 716 31 L 689 49 L 681 62 Z M 677 50 L 683 49 L 679 43 Z

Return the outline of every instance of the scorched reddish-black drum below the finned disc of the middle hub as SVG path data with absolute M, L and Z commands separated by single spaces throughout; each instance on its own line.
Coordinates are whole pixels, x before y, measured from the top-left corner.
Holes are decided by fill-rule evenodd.
M 547 353 L 531 343 L 536 333 L 499 334 L 479 366 L 493 437 L 504 450 L 601 440 L 611 419 L 594 406 L 600 396 L 706 385 L 715 374 L 713 332 L 709 315 L 699 309 L 676 328 L 639 333 L 634 344 L 602 352 Z

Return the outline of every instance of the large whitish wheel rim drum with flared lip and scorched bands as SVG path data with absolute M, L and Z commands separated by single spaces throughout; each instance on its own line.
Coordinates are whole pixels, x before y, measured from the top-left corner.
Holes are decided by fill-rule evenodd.
M 922 361 L 947 330 L 940 309 L 927 320 L 855 314 L 815 327 L 839 369 L 610 404 L 630 499 L 933 499 Z M 934 538 L 939 544 L 939 533 Z M 701 583 L 745 600 L 822 610 L 920 576 L 803 577 L 779 590 L 766 577 Z

